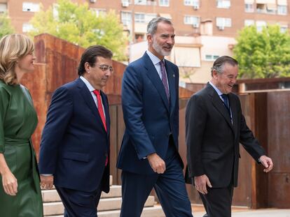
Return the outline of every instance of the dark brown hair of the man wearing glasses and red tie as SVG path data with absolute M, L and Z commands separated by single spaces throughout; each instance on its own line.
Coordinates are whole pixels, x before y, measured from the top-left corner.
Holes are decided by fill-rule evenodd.
M 93 45 L 88 47 L 81 55 L 81 61 L 78 65 L 78 75 L 85 73 L 85 63 L 88 62 L 90 66 L 94 66 L 97 61 L 97 57 L 104 57 L 106 59 L 112 59 L 113 53 L 111 50 L 106 49 L 102 45 Z

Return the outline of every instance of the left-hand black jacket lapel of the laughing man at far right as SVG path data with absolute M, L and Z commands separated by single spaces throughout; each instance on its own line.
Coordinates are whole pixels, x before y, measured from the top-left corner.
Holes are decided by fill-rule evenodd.
M 214 107 L 216 107 L 216 110 L 218 110 L 221 113 L 221 115 L 226 119 L 226 122 L 228 123 L 230 128 L 233 130 L 233 133 L 235 134 L 232 121 L 230 121 L 230 115 L 228 114 L 226 106 L 223 105 L 221 98 L 219 98 L 219 94 L 216 93 L 212 85 L 207 84 L 207 88 L 211 89 L 210 95 L 212 96 L 212 104 L 214 105 Z

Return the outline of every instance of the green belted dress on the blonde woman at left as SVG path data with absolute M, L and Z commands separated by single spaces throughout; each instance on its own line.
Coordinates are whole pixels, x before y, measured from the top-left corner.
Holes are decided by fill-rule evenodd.
M 0 175 L 0 216 L 43 216 L 39 172 L 31 136 L 37 116 L 28 90 L 0 80 L 0 153 L 18 180 L 16 196 L 4 192 Z

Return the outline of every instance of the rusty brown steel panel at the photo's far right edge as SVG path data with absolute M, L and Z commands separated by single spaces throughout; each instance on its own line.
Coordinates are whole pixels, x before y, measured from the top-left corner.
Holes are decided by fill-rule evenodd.
M 270 207 L 290 208 L 290 91 L 268 93 L 268 153 L 274 162 L 269 174 Z

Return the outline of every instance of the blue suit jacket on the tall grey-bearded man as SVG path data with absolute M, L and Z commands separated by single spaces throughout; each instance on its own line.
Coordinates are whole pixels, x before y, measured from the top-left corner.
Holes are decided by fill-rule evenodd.
M 178 150 L 179 70 L 165 60 L 170 102 L 148 54 L 127 66 L 122 83 L 125 134 L 117 167 L 127 172 L 153 174 L 146 156 L 165 158 L 172 134 Z

